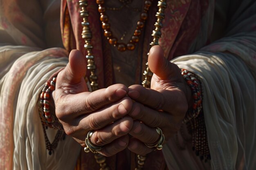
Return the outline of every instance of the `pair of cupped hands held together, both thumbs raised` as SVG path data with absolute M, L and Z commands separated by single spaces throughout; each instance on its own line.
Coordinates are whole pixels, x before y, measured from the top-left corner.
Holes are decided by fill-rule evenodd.
M 180 128 L 191 103 L 191 91 L 178 66 L 164 58 L 160 46 L 153 46 L 148 56 L 148 66 L 154 73 L 151 88 L 114 84 L 88 92 L 83 78 L 85 60 L 80 51 L 71 51 L 53 93 L 57 118 L 66 134 L 81 146 L 86 146 L 87 133 L 93 130 L 90 141 L 104 146 L 98 151 L 102 155 L 109 157 L 127 147 L 146 155 L 152 148 L 144 143 L 159 140 L 156 127 L 162 129 L 165 140 Z

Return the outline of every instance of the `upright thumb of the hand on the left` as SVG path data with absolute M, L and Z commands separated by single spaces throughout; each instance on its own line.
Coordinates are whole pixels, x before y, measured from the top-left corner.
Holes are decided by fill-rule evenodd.
M 63 80 L 66 83 L 78 84 L 86 72 L 86 60 L 79 50 L 72 50 L 69 55 L 69 62 L 63 70 Z

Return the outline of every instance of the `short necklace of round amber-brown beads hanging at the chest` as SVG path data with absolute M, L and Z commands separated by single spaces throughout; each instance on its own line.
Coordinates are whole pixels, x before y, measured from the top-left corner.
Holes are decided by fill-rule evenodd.
M 117 47 L 119 51 L 134 50 L 135 45 L 139 42 L 139 36 L 141 35 L 141 31 L 144 28 L 145 21 L 148 18 L 148 9 L 151 6 L 151 0 L 144 0 L 144 10 L 141 12 L 140 19 L 137 21 L 136 29 L 130 39 L 130 41 L 125 44 L 119 42 L 119 40 L 113 36 L 113 33 L 110 28 L 110 24 L 108 23 L 108 15 L 106 14 L 106 7 L 104 5 L 104 0 L 96 0 L 99 5 L 98 11 L 100 13 L 101 26 L 104 30 L 104 36 L 108 39 L 108 42 Z

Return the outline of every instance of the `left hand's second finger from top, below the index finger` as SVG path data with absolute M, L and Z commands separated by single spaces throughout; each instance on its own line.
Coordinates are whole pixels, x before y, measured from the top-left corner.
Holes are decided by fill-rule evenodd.
M 97 110 L 91 114 L 81 115 L 68 123 L 66 123 L 65 119 L 64 121 L 60 119 L 60 121 L 67 135 L 84 141 L 85 135 L 89 130 L 98 130 L 111 124 L 113 121 L 122 120 L 121 118 L 127 115 L 131 108 L 132 101 L 130 97 L 124 97 L 111 106 Z M 130 118 L 130 120 L 132 119 Z

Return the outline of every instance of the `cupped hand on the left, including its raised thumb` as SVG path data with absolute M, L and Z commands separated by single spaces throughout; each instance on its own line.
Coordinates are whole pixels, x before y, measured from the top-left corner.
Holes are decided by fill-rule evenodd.
M 73 50 L 69 63 L 58 74 L 53 93 L 56 117 L 65 133 L 83 147 L 87 133 L 93 130 L 92 144 L 103 146 L 98 151 L 102 155 L 112 156 L 128 146 L 133 120 L 127 114 L 132 100 L 126 97 L 128 88 L 123 84 L 88 92 L 85 63 L 81 52 Z

